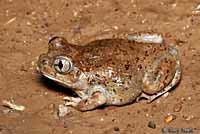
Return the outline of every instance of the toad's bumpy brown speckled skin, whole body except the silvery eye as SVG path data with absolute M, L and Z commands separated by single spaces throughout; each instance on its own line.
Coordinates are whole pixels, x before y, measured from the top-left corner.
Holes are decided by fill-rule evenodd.
M 55 69 L 59 56 L 71 60 L 70 71 Z M 48 52 L 40 56 L 38 68 L 44 76 L 75 91 L 79 97 L 65 97 L 66 105 L 81 111 L 124 105 L 141 97 L 152 101 L 175 86 L 181 73 L 175 48 L 126 39 L 95 40 L 79 46 L 54 37 Z

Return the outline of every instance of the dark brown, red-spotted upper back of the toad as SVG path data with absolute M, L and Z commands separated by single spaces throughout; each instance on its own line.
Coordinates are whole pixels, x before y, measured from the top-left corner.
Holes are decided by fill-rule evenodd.
M 168 48 L 162 44 L 138 43 L 123 39 L 93 41 L 80 47 L 76 64 L 86 70 L 112 67 L 123 72 L 143 70 Z

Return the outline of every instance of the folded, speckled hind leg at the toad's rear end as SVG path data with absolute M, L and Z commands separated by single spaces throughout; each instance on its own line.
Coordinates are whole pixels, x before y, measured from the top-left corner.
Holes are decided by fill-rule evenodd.
M 140 98 L 149 102 L 168 92 L 181 79 L 181 67 L 178 52 L 169 48 L 168 52 L 159 56 L 149 67 L 143 77 L 143 93 Z

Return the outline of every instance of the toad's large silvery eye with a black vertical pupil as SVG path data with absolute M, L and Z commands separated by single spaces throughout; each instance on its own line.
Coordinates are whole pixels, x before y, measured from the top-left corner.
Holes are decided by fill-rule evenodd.
M 72 70 L 73 65 L 69 58 L 64 56 L 58 56 L 54 60 L 54 68 L 59 73 L 67 73 Z

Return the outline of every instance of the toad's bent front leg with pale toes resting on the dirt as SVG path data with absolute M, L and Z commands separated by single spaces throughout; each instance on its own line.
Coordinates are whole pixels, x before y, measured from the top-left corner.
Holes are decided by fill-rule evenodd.
M 65 105 L 72 106 L 80 111 L 92 110 L 106 103 L 106 97 L 100 91 L 94 92 L 83 99 L 64 97 L 64 100 L 66 100 Z

